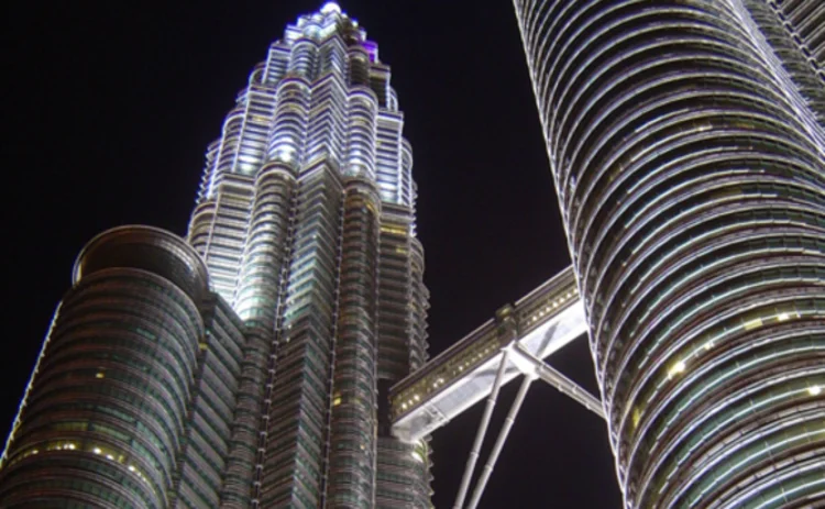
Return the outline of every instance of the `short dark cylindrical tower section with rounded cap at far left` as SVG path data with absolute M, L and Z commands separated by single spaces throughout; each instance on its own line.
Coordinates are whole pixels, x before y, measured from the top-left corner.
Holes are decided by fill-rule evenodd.
M 168 505 L 207 292 L 200 257 L 163 230 L 84 247 L 3 458 L 2 507 Z

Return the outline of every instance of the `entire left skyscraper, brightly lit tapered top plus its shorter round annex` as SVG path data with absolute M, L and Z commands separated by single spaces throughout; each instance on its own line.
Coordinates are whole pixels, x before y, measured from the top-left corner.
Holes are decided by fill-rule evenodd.
M 92 240 L 26 391 L 0 504 L 429 507 L 386 394 L 426 361 L 416 188 L 389 67 L 329 2 L 207 152 L 188 243 Z

